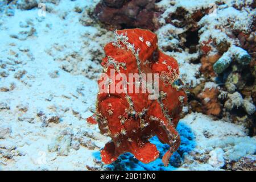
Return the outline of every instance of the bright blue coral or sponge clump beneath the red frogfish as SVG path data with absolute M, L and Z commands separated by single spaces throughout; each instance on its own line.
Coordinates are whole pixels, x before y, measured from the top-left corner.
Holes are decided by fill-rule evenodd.
M 175 170 L 177 167 L 180 167 L 183 163 L 183 157 L 185 154 L 195 148 L 196 143 L 194 140 L 194 135 L 191 129 L 185 125 L 183 122 L 179 122 L 177 126 L 177 131 L 180 134 L 181 144 L 179 149 L 172 155 L 170 164 L 167 167 L 163 166 L 163 162 L 161 158 L 164 153 L 168 150 L 168 144 L 163 144 L 159 141 L 157 137 L 152 137 L 150 139 L 151 143 L 154 143 L 158 148 L 160 155 L 159 158 L 154 162 L 144 164 L 139 162 L 134 156 L 130 153 L 125 153 L 119 156 L 119 158 L 112 164 L 106 165 L 106 167 L 110 170 L 119 170 L 119 171 L 170 171 Z M 95 152 L 94 156 L 96 159 L 100 159 L 100 152 Z

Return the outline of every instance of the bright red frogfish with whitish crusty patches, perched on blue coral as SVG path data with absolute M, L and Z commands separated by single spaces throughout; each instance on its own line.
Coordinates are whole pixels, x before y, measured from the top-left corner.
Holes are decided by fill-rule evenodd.
M 116 41 L 108 43 L 106 57 L 102 67 L 106 75 L 123 73 L 158 73 L 159 97 L 148 100 L 150 93 L 130 93 L 125 86 L 120 86 L 121 93 L 112 92 L 111 88 L 120 80 L 112 77 L 108 82 L 108 92 L 97 97 L 96 121 L 102 134 L 112 138 L 101 151 L 102 162 L 110 164 L 124 152 L 131 152 L 143 163 L 158 158 L 159 151 L 148 141 L 157 135 L 161 142 L 170 145 L 170 150 L 163 156 L 164 166 L 180 144 L 179 134 L 175 130 L 179 114 L 187 97 L 183 84 L 179 80 L 177 61 L 158 49 L 158 39 L 154 33 L 139 28 L 118 30 Z M 99 86 L 101 81 L 99 80 Z M 133 89 L 142 84 L 129 82 Z M 100 88 L 102 89 L 102 88 Z

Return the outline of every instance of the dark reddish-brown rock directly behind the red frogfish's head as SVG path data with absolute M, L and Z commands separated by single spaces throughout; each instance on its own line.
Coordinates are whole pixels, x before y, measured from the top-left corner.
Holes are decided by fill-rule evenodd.
M 110 30 L 121 28 L 147 28 L 155 30 L 156 0 L 103 0 L 94 14 Z

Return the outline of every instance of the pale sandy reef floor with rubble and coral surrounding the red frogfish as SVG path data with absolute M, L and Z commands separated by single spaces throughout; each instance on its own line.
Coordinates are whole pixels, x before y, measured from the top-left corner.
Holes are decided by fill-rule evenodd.
M 168 146 L 156 137 L 160 158 L 152 163 L 129 153 L 101 162 L 110 138 L 86 118 L 96 109 L 102 48 L 114 33 L 93 15 L 100 0 L 45 2 L 46 16 L 38 1 L 0 2 L 0 170 L 256 170 L 251 1 L 221 1 L 216 16 L 205 12 L 208 1 L 162 0 L 150 8 L 161 13 L 152 28 L 158 46 L 178 61 L 190 92 L 168 167 L 160 159 Z M 217 60 L 240 48 L 245 59 L 221 62 L 225 69 L 214 72 Z

